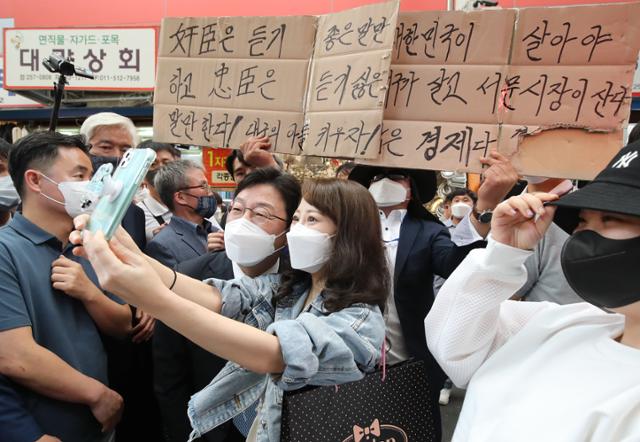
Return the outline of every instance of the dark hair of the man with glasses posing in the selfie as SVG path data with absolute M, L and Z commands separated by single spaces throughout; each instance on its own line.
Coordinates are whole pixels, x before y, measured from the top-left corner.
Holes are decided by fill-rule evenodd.
M 300 199 L 302 198 L 302 189 L 298 180 L 293 175 L 284 173 L 275 167 L 263 167 L 247 175 L 238 184 L 235 195 L 260 184 L 273 186 L 280 194 L 287 212 L 287 225 L 291 224 L 291 218 L 293 218 L 293 214 L 296 212 L 298 205 L 300 205 Z

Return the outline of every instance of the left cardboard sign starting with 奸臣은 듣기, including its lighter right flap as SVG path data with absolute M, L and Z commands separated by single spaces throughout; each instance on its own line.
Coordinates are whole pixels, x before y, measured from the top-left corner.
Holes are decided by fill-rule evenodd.
M 155 137 L 234 147 L 269 136 L 276 152 L 375 158 L 397 11 L 164 19 Z

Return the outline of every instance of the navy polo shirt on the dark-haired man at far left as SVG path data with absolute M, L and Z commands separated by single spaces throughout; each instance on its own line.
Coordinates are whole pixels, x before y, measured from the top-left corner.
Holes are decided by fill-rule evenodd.
M 107 359 L 96 325 L 80 301 L 51 286 L 51 263 L 61 254 L 80 262 L 97 285 L 86 260 L 73 256 L 71 247 L 62 250 L 58 239 L 22 215 L 0 229 L 0 331 L 29 326 L 39 345 L 107 384 Z M 100 440 L 89 407 L 24 388 L 20 395 L 45 433 L 64 441 Z

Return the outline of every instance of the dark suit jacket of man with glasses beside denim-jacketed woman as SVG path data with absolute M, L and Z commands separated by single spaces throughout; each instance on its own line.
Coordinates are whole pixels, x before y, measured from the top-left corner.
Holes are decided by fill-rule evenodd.
M 279 271 L 290 268 L 281 254 Z M 178 264 L 177 271 L 195 279 L 233 279 L 231 260 L 224 251 L 209 252 Z M 170 442 L 184 442 L 191 432 L 189 398 L 206 387 L 227 361 L 204 350 L 160 321 L 153 335 L 154 388 Z M 229 421 L 201 437 L 222 442 L 233 426 Z

